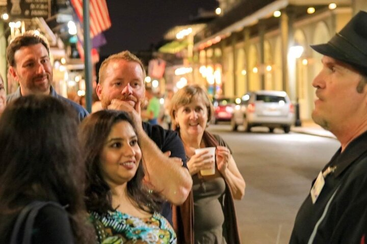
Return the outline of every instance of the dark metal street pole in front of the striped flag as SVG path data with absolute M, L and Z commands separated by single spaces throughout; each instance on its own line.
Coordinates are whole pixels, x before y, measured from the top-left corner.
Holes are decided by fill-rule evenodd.
M 92 58 L 89 24 L 89 0 L 83 0 L 83 28 L 84 28 L 84 66 L 86 82 L 86 105 L 88 112 L 92 111 Z

